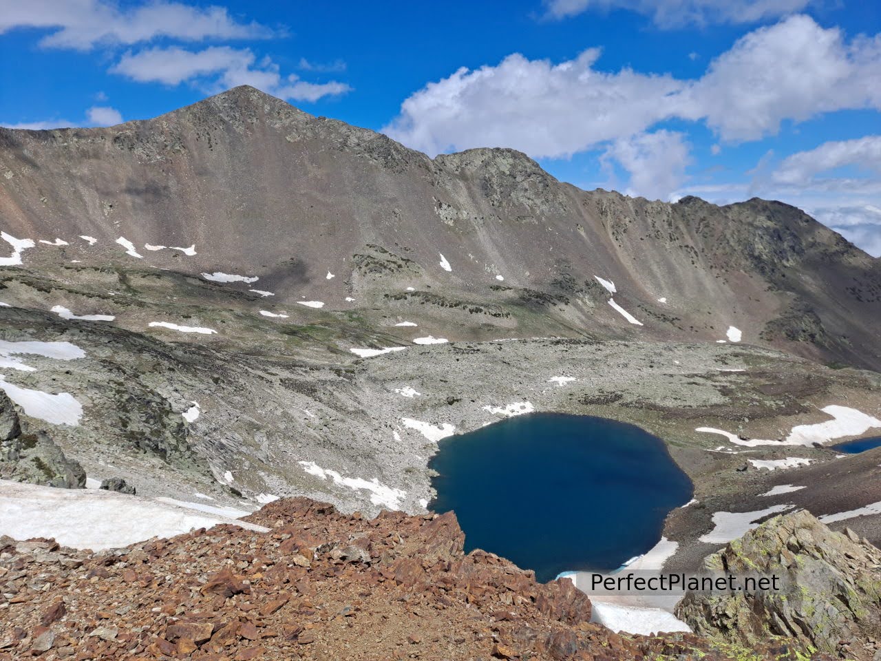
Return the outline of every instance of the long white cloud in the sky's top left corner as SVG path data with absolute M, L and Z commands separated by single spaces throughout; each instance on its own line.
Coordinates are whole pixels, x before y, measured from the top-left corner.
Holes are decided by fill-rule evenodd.
M 256 23 L 240 23 L 224 7 L 157 0 L 129 9 L 102 0 L 0 0 L 0 33 L 14 28 L 53 30 L 46 48 L 87 50 L 96 44 L 134 44 L 170 37 L 184 41 L 269 36 Z

